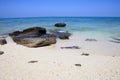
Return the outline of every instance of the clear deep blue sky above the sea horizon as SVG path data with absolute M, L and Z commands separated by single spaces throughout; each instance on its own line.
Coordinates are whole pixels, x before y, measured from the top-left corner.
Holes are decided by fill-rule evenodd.
M 0 18 L 120 17 L 120 0 L 0 0 Z

